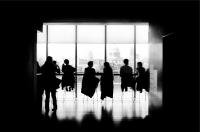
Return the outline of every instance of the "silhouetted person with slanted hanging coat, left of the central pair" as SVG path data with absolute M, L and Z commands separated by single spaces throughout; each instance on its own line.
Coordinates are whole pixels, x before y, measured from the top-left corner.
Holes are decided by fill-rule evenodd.
M 88 62 L 88 67 L 85 68 L 84 75 L 83 75 L 83 80 L 82 80 L 82 89 L 81 93 L 89 96 L 92 98 L 92 96 L 95 93 L 95 90 L 98 86 L 99 79 L 96 78 L 95 74 L 95 69 L 93 67 L 93 61 Z

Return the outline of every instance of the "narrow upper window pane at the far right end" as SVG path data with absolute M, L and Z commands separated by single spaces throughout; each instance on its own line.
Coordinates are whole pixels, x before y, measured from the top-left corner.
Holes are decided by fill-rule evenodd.
M 148 43 L 149 25 L 136 25 L 136 43 Z

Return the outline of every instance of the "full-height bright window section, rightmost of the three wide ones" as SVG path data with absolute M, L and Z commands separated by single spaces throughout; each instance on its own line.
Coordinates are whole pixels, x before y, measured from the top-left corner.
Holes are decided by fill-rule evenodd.
M 134 68 L 134 25 L 107 25 L 107 61 L 119 73 L 123 59 Z

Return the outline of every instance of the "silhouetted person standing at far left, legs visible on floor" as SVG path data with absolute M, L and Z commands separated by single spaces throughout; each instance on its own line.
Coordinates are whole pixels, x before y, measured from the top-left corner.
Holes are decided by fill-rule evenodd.
M 49 111 L 49 98 L 50 93 L 53 99 L 53 111 L 57 109 L 57 100 L 56 100 L 56 67 L 53 64 L 53 59 L 51 56 L 48 56 L 46 62 L 42 66 L 42 78 L 43 78 L 43 87 L 46 94 L 45 100 L 45 109 L 46 112 Z

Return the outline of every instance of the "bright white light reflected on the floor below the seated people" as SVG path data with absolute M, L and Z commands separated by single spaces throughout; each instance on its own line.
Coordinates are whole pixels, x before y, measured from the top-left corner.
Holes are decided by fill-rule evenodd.
M 80 86 L 78 86 L 80 87 Z M 102 118 L 102 109 L 111 113 L 114 123 L 120 123 L 124 118 L 145 118 L 149 114 L 149 101 L 152 101 L 149 93 L 145 90 L 142 93 L 129 89 L 122 93 L 120 88 L 114 90 L 114 97 L 100 100 L 100 90 L 97 89 L 93 98 L 89 98 L 78 91 L 75 98 L 75 91 L 66 92 L 57 90 L 57 119 L 62 121 L 73 119 L 81 122 L 86 114 L 93 114 L 97 120 Z M 136 96 L 134 98 L 134 96 Z M 45 113 L 45 94 L 43 94 L 42 113 Z M 52 99 L 50 99 L 50 109 L 52 109 Z M 49 112 L 51 116 L 52 111 Z

